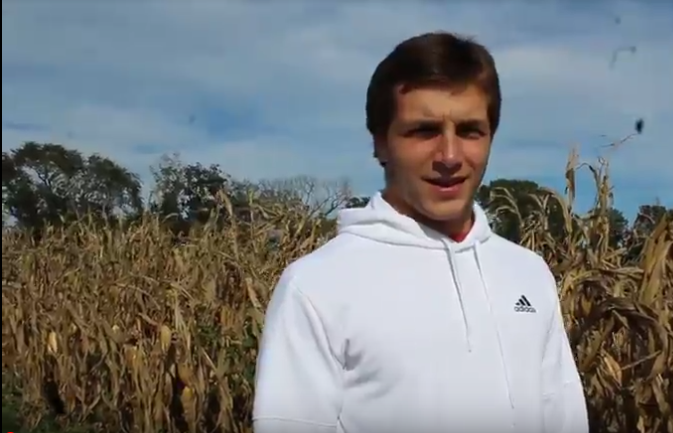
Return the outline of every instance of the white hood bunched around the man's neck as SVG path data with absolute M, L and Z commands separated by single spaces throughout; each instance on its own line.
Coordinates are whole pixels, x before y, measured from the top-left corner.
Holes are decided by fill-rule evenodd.
M 381 192 L 377 192 L 363 208 L 340 211 L 337 227 L 339 233 L 351 233 L 388 244 L 425 249 L 450 249 L 453 252 L 459 252 L 475 248 L 478 244 L 487 241 L 493 233 L 481 206 L 475 202 L 472 209 L 475 216 L 474 225 L 461 242 L 455 242 L 414 219 L 402 215 L 383 199 Z

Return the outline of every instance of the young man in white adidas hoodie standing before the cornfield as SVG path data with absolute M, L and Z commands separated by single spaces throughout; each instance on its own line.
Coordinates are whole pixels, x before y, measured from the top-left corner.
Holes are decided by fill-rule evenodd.
M 377 67 L 385 188 L 291 264 L 257 364 L 257 433 L 586 433 L 556 283 L 474 202 L 500 117 L 493 58 L 448 33 Z

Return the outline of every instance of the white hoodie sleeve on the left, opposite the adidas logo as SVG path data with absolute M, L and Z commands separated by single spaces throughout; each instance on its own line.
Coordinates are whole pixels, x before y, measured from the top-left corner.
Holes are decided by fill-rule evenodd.
M 306 296 L 283 275 L 266 312 L 257 358 L 255 433 L 334 433 L 342 367 Z

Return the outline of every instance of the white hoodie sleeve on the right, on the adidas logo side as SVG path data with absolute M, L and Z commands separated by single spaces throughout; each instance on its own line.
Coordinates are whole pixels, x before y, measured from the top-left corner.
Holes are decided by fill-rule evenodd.
M 553 314 L 542 363 L 545 433 L 588 433 L 582 380 L 568 341 L 561 306 L 553 283 Z

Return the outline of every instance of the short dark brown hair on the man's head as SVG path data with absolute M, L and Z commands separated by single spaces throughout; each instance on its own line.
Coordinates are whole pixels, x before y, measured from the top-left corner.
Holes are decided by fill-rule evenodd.
M 470 85 L 488 98 L 488 121 L 494 135 L 500 123 L 500 82 L 495 61 L 470 38 L 432 32 L 402 41 L 379 63 L 367 88 L 367 129 L 384 135 L 395 115 L 395 93 L 442 85 L 460 90 Z

